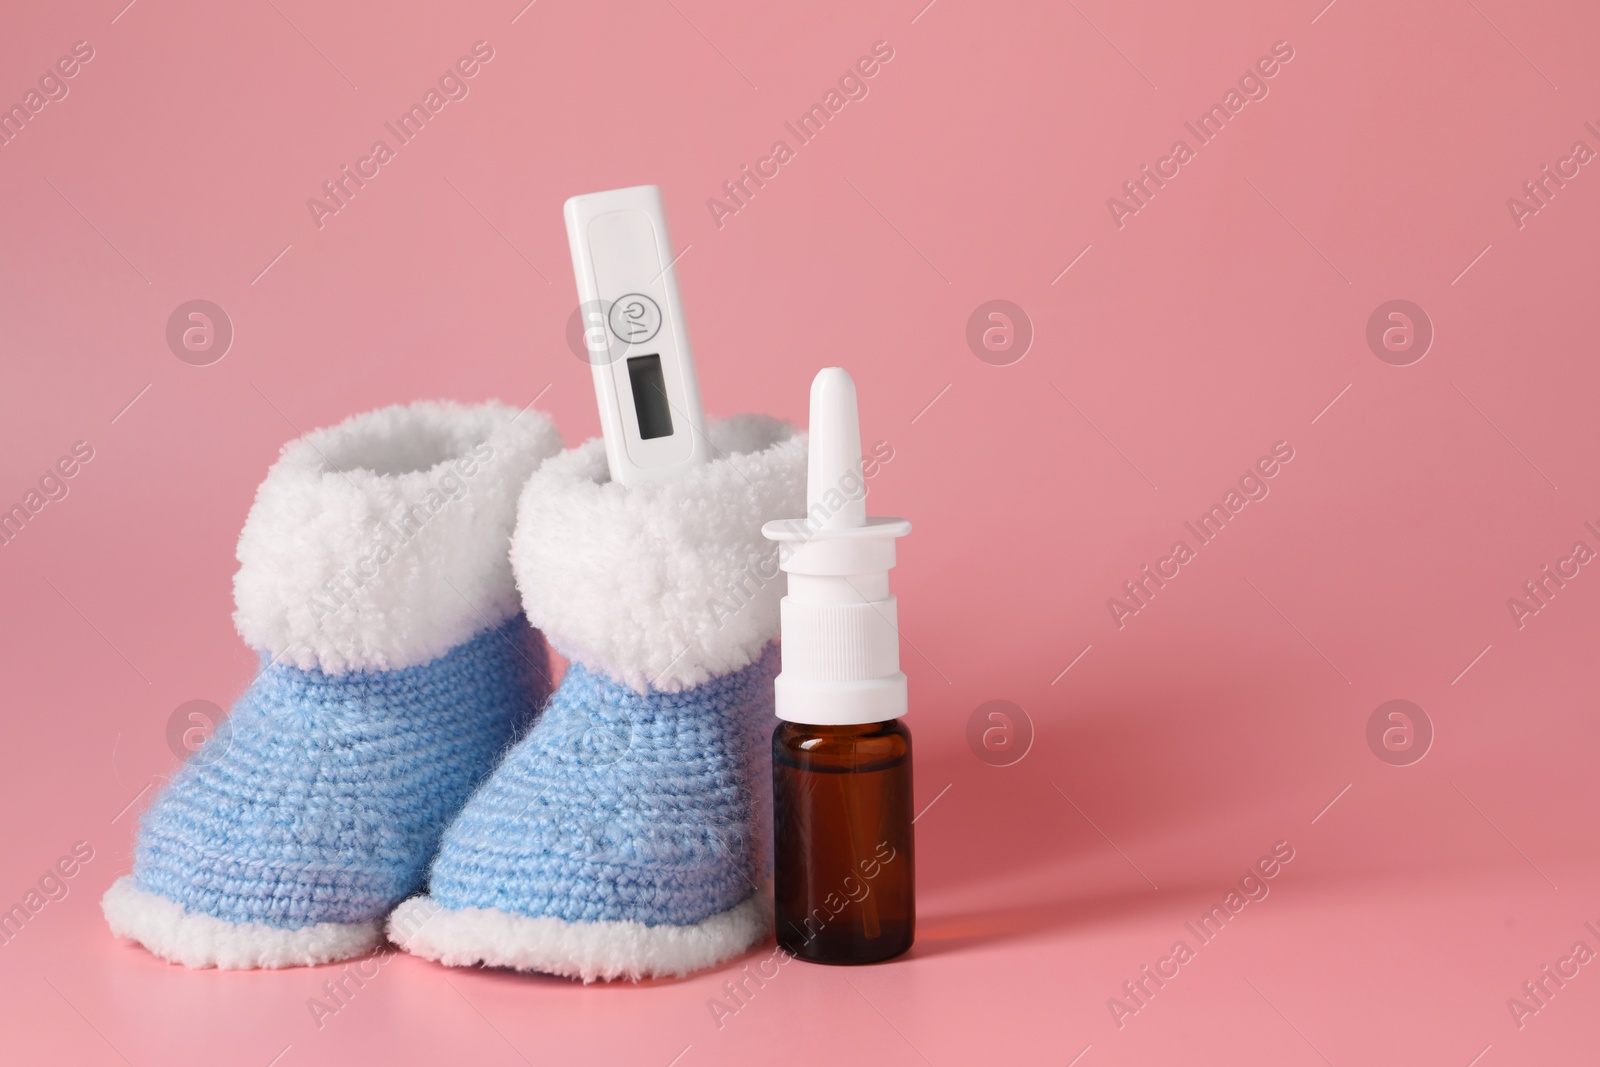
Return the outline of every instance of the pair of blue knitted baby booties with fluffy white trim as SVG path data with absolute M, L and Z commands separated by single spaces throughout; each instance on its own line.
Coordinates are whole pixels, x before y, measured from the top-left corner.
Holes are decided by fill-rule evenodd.
M 778 600 L 805 438 L 608 478 L 550 419 L 414 403 L 283 448 L 238 541 L 261 670 L 139 824 L 114 933 L 186 966 L 395 945 L 683 976 L 766 936 Z M 509 549 L 509 552 L 507 552 Z M 552 694 L 546 640 L 568 661 Z

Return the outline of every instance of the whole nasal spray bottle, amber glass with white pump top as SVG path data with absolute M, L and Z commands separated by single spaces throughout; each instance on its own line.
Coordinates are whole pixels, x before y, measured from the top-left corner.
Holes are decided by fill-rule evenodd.
M 874 963 L 915 936 L 910 731 L 890 593 L 904 518 L 867 518 L 856 384 L 811 382 L 806 514 L 766 523 L 789 573 L 773 733 L 778 944 Z

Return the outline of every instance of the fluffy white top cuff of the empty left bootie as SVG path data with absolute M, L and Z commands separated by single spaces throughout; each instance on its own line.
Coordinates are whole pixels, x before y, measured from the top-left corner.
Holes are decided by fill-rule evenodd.
M 517 613 L 506 545 L 562 442 L 502 403 L 368 411 L 283 446 L 238 537 L 234 622 L 328 673 L 435 659 Z

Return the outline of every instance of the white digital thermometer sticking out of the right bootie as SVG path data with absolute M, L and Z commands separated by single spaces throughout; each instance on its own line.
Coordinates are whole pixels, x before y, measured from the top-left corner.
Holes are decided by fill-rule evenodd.
M 584 194 L 563 214 L 611 480 L 674 478 L 710 440 L 661 189 Z

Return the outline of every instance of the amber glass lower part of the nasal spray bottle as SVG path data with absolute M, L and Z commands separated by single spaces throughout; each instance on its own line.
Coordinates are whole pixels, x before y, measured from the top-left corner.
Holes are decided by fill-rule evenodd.
M 813 963 L 875 963 L 917 928 L 910 731 L 779 723 L 773 733 L 778 944 Z

